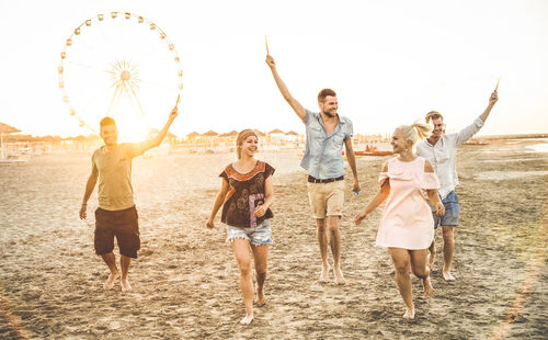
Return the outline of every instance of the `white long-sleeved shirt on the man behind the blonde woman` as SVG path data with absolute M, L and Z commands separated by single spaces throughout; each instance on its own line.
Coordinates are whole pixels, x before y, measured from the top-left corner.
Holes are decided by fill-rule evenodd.
M 471 125 L 463 128 L 459 133 L 442 135 L 435 145 L 430 144 L 427 139 L 416 144 L 416 155 L 426 158 L 434 166 L 439 179 L 438 192 L 442 200 L 458 185 L 458 146 L 470 139 L 481 127 L 483 127 L 483 121 L 477 117 Z

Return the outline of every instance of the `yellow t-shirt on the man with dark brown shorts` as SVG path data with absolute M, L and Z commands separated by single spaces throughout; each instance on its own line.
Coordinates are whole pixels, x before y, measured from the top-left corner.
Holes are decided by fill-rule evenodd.
M 103 146 L 91 156 L 92 172 L 99 175 L 99 207 L 122 211 L 135 205 L 132 160 L 142 155 L 138 144 L 119 144 L 113 151 Z

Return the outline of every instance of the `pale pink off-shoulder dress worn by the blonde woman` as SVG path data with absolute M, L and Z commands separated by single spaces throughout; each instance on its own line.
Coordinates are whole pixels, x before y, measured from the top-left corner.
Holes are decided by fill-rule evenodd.
M 379 175 L 379 185 L 390 181 L 390 194 L 380 219 L 376 245 L 408 250 L 426 249 L 434 239 L 434 219 L 423 194 L 437 189 L 434 172 L 424 172 L 422 157 L 412 161 L 388 160 L 388 171 Z

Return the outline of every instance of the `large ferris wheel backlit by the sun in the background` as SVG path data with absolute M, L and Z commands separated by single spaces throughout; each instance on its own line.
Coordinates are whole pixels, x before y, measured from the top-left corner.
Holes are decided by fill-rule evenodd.
M 80 127 L 116 120 L 122 140 L 145 137 L 165 123 L 183 89 L 181 59 L 151 21 L 128 12 L 98 14 L 66 39 L 59 89 Z

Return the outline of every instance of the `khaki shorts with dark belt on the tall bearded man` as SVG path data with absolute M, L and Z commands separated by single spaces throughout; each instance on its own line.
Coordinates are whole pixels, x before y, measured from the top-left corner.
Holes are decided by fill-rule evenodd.
M 315 218 L 342 216 L 344 181 L 307 183 L 308 201 Z

